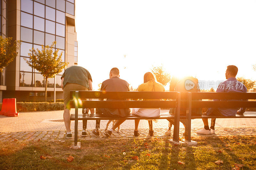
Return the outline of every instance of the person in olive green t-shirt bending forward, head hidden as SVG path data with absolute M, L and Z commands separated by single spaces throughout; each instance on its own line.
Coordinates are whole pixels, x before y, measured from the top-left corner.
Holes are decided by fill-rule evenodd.
M 88 70 L 80 66 L 71 66 L 67 68 L 61 76 L 61 88 L 63 89 L 65 110 L 63 113 L 64 123 L 67 129 L 66 138 L 72 138 L 72 131 L 70 129 L 70 107 L 69 98 L 70 91 L 87 91 L 92 90 L 92 76 Z M 91 99 L 89 99 L 91 100 Z M 94 108 L 90 109 L 94 113 Z M 86 129 L 82 131 L 82 137 L 88 136 Z

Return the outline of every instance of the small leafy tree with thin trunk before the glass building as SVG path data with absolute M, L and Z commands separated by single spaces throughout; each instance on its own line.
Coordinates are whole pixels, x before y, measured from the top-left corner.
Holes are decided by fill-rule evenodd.
M 41 50 L 32 48 L 28 53 L 30 58 L 24 58 L 30 67 L 36 69 L 45 78 L 45 101 L 47 101 L 48 78 L 53 78 L 55 74 L 60 73 L 68 65 L 68 63 L 61 60 L 62 52 L 58 55 L 59 49 L 53 51 L 52 48 L 54 48 L 55 44 L 56 41 L 51 46 L 42 46 Z

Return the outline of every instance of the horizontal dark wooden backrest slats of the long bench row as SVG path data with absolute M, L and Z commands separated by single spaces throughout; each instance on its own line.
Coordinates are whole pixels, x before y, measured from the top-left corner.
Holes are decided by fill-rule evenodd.
M 73 99 L 78 100 L 73 100 Z M 85 99 L 175 99 L 168 101 L 96 101 Z M 190 98 L 190 99 L 188 99 Z M 188 99 L 187 101 L 180 101 Z M 256 93 L 217 93 L 217 92 L 104 92 L 71 91 L 70 107 L 75 108 L 170 108 L 187 107 L 192 99 L 256 100 Z M 256 101 L 192 101 L 192 108 L 201 107 L 256 107 Z

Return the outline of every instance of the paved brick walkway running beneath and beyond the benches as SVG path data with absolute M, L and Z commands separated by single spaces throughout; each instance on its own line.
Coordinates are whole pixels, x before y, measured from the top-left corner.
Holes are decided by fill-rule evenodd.
M 79 110 L 81 112 L 81 110 Z M 71 110 L 71 113 L 74 110 Z M 162 113 L 168 110 L 162 110 Z M 101 131 L 106 127 L 108 121 L 101 121 Z M 196 136 L 196 130 L 203 127 L 201 119 L 191 121 L 191 135 Z M 111 127 L 112 124 L 109 125 Z M 217 119 L 215 125 L 216 135 L 256 135 L 256 118 L 239 119 Z M 88 137 L 81 137 L 82 121 L 78 121 L 78 135 L 80 139 L 94 139 L 91 130 L 95 128 L 95 121 L 88 121 Z M 153 122 L 156 137 L 166 137 L 168 129 L 167 120 Z M 71 122 L 74 130 L 74 121 Z M 134 121 L 127 120 L 120 126 L 121 133 L 114 132 L 112 138 L 133 137 Z M 48 112 L 23 112 L 18 117 L 6 117 L 0 115 L 0 141 L 18 140 L 64 140 L 65 125 L 63 122 L 63 111 Z M 139 124 L 140 137 L 148 137 L 148 121 L 141 120 Z M 173 128 L 172 128 L 173 130 Z M 180 124 L 180 135 L 184 132 L 184 126 Z M 97 138 L 104 138 L 103 136 Z

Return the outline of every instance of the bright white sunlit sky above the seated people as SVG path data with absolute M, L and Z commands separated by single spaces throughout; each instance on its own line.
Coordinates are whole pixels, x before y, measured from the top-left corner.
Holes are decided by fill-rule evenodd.
M 171 76 L 256 80 L 256 0 L 76 0 L 78 65 L 93 88 L 113 67 L 133 88 L 154 66 Z M 168 89 L 168 85 L 166 86 Z

